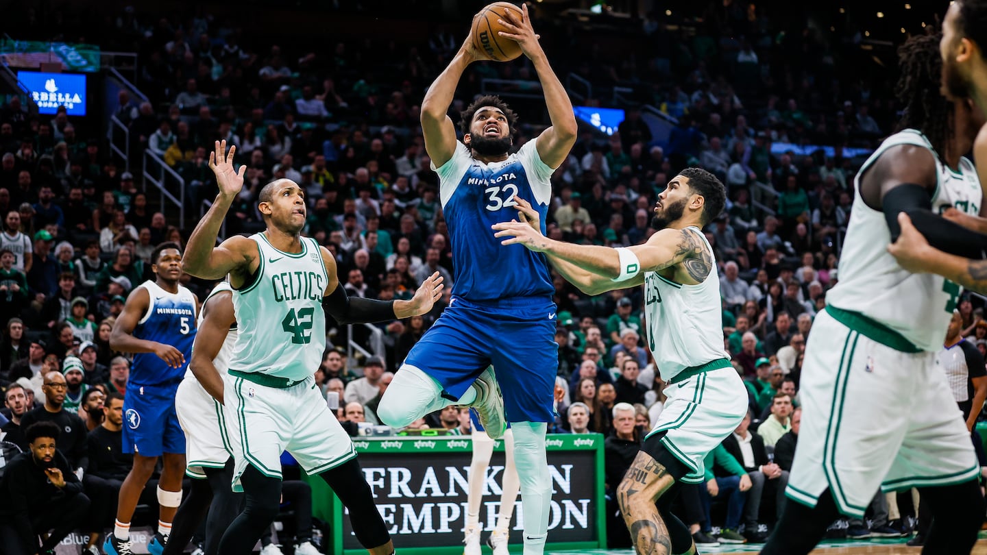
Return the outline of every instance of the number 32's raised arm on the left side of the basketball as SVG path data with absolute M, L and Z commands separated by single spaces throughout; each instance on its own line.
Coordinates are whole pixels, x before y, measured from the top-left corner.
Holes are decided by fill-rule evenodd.
M 477 17 L 479 14 L 474 19 Z M 473 40 L 467 38 L 449 65 L 428 87 L 421 101 L 421 133 L 425 139 L 425 151 L 436 168 L 448 162 L 456 151 L 456 126 L 446 114 L 456 94 L 459 79 L 468 65 L 481 59 L 489 58 L 474 48 Z

